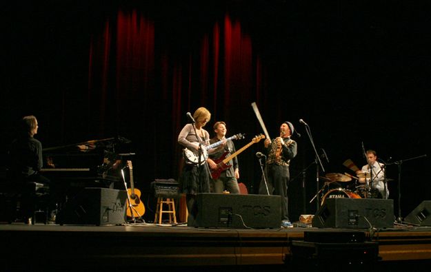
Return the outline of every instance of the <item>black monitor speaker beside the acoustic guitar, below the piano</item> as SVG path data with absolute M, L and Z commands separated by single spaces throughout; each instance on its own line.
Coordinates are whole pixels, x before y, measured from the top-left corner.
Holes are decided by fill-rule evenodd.
M 123 190 L 87 187 L 66 202 L 57 224 L 123 224 L 127 193 Z

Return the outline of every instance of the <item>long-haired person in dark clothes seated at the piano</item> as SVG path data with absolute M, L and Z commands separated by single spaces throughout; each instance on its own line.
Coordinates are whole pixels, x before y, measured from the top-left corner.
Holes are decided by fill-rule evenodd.
M 21 216 L 24 222 L 29 222 L 33 215 L 35 182 L 50 185 L 50 180 L 39 174 L 43 159 L 42 144 L 34 138 L 38 128 L 36 117 L 24 116 L 8 152 L 8 178 L 21 193 Z

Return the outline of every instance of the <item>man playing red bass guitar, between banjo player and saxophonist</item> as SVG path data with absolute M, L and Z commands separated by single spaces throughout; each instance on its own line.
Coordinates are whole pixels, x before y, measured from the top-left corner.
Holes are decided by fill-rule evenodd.
M 214 138 L 210 140 L 210 143 L 216 143 L 220 140 L 225 139 L 226 132 L 226 124 L 223 121 L 219 121 L 213 126 L 214 132 L 216 135 Z M 209 155 L 207 160 L 208 165 L 211 170 L 217 169 L 220 167 L 218 164 L 225 159 L 230 154 L 235 152 L 234 143 L 232 140 L 228 140 L 225 145 L 222 145 L 214 153 Z M 220 176 L 215 178 L 213 177 L 211 181 L 211 192 L 212 193 L 223 193 L 223 191 L 228 191 L 230 193 L 239 193 L 238 187 L 238 178 L 239 178 L 239 166 L 238 159 L 235 156 L 232 158 L 227 164 L 227 169 L 223 169 L 221 171 Z

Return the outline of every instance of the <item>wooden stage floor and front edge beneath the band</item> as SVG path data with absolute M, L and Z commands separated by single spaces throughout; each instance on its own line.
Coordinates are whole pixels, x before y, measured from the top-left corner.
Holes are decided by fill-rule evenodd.
M 3 271 L 116 271 L 127 268 L 287 271 L 299 265 L 292 258 L 292 249 L 298 242 L 303 242 L 304 233 L 313 233 L 325 240 L 332 240 L 328 237 L 332 236 L 334 242 L 346 233 L 361 234 L 365 237 L 362 245 L 378 247 L 378 260 L 372 267 L 383 271 L 419 267 L 430 264 L 431 259 L 431 227 L 406 224 L 370 230 L 230 229 L 146 223 L 100 226 L 5 223 L 0 224 L 0 233 L 3 252 L 6 252 L 2 254 Z M 345 256 L 357 254 L 353 249 L 355 243 L 333 243 L 332 246 L 337 250 L 332 249 L 335 253 L 328 262 L 321 262 L 323 268 L 334 271 L 344 267 L 349 271 L 361 271 L 359 264 L 352 263 L 350 267 L 344 264 Z M 319 253 L 309 261 L 313 258 L 319 258 Z

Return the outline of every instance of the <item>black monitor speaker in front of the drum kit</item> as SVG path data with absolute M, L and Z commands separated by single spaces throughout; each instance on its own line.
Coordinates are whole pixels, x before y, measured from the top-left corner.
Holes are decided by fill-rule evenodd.
M 312 227 L 345 229 L 394 227 L 394 200 L 328 198 L 314 215 Z

